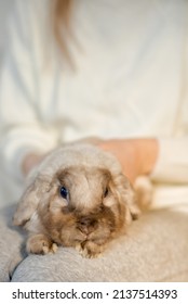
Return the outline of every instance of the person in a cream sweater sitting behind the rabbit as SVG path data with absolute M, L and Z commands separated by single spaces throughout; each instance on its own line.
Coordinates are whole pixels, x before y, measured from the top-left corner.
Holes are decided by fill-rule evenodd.
M 148 175 L 185 202 L 187 1 L 15 3 L 0 80 L 3 200 L 45 153 L 94 137 L 131 182 Z

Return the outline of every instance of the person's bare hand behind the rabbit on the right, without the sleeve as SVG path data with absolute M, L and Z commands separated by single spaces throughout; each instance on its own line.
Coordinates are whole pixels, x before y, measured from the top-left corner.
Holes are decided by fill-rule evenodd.
M 157 139 L 110 139 L 96 144 L 118 159 L 132 183 L 136 177 L 150 174 L 158 157 Z

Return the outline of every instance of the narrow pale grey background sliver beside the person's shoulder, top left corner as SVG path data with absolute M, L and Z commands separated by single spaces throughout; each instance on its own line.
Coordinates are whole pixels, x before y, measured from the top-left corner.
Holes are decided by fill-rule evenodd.
M 8 15 L 14 2 L 15 0 L 0 0 L 0 63 L 2 61 L 3 45 L 6 38 Z

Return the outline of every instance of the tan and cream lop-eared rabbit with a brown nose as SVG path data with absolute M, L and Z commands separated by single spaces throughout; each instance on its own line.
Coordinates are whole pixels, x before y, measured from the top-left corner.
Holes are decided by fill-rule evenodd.
M 97 257 L 140 214 L 118 160 L 94 144 L 65 144 L 30 174 L 13 223 L 29 233 L 28 253 L 71 246 Z

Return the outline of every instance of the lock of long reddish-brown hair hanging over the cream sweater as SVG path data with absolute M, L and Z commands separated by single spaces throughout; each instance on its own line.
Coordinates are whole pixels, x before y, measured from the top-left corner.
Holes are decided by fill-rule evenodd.
M 52 29 L 55 41 L 63 55 L 71 64 L 67 46 L 67 35 L 70 36 L 70 14 L 73 0 L 52 0 Z

